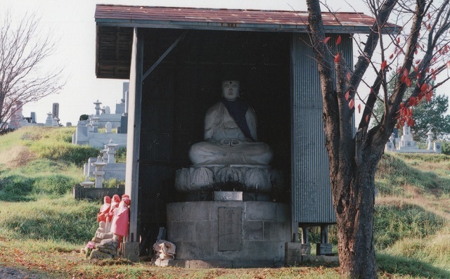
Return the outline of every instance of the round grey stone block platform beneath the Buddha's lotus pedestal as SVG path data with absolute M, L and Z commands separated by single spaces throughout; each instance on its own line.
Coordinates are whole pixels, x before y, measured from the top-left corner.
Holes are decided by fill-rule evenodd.
M 279 202 L 176 202 L 167 205 L 167 240 L 178 264 L 283 266 L 290 207 Z

